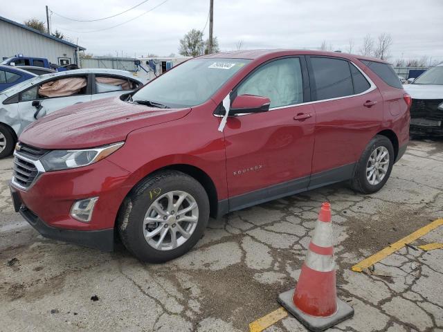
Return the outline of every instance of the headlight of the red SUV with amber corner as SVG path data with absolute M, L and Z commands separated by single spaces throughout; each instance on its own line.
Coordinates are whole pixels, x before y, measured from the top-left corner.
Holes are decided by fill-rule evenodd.
M 40 159 L 46 171 L 58 171 L 91 165 L 114 153 L 125 142 L 82 150 L 53 150 Z

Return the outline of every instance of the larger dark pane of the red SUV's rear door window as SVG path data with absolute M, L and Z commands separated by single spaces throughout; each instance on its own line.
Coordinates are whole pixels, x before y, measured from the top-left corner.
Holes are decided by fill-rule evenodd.
M 349 64 L 346 60 L 329 57 L 310 57 L 314 71 L 316 100 L 344 97 L 354 94 Z

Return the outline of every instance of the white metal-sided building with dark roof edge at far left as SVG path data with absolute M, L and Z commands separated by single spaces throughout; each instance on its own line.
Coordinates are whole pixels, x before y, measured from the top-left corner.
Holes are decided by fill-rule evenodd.
M 0 16 L 0 59 L 22 54 L 58 65 L 78 64 L 77 53 L 85 49 Z

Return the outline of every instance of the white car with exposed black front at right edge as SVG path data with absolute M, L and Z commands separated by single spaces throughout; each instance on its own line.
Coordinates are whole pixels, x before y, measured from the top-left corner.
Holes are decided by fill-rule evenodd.
M 443 136 L 443 63 L 403 87 L 413 98 L 410 133 Z

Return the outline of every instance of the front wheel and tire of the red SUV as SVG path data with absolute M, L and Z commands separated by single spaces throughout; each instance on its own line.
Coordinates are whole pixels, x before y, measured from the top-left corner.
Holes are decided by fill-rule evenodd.
M 176 206 L 179 199 L 183 203 Z M 170 201 L 174 205 L 168 205 Z M 180 214 L 186 209 L 189 211 Z M 118 213 L 117 227 L 134 256 L 144 262 L 163 263 L 195 246 L 208 220 L 209 199 L 204 187 L 182 172 L 163 171 L 145 178 L 129 192 Z

